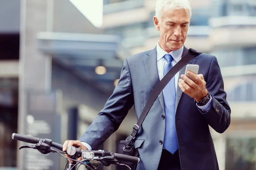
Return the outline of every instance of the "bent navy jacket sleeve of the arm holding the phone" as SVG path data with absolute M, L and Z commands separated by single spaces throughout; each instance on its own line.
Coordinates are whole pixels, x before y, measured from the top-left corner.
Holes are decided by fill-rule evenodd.
M 216 132 L 224 133 L 230 125 L 231 111 L 226 100 L 227 94 L 224 91 L 224 82 L 216 57 L 212 58 L 206 86 L 212 96 L 212 106 L 206 113 L 199 111 Z

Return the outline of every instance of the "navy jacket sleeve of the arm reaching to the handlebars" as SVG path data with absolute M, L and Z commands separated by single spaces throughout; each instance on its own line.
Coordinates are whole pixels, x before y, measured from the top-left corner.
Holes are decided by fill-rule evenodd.
M 118 85 L 113 94 L 79 140 L 90 144 L 92 149 L 96 150 L 118 129 L 133 105 L 131 74 L 127 59 L 125 59 Z

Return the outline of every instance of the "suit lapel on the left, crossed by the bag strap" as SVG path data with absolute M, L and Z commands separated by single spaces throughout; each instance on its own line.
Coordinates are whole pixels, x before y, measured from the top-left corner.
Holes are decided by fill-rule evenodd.
M 152 88 L 154 89 L 158 82 L 160 82 L 158 70 L 157 70 L 157 49 L 154 48 L 147 53 L 148 57 L 144 59 L 144 64 L 146 68 L 146 72 L 148 75 L 148 79 L 151 83 Z M 164 109 L 164 99 L 163 99 L 163 91 L 158 95 L 158 99 L 160 100 L 160 104 Z

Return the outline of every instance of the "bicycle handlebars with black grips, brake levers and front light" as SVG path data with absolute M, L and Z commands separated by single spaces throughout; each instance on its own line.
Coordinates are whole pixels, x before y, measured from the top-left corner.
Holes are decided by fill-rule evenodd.
M 38 150 L 42 154 L 47 154 L 51 152 L 58 153 L 59 155 L 65 158 L 67 157 L 62 154 L 67 153 L 68 155 L 71 156 L 71 159 L 70 158 L 67 158 L 67 159 L 73 160 L 73 162 L 72 163 L 70 162 L 67 167 L 67 164 L 69 162 L 67 161 L 67 164 L 66 164 L 67 169 L 65 167 L 65 170 L 76 170 L 76 166 L 79 164 L 80 165 L 83 164 L 87 170 L 95 170 L 99 166 L 104 167 L 104 166 L 110 166 L 111 164 L 118 164 L 120 166 L 127 168 L 128 170 L 131 170 L 131 167 L 129 167 L 126 164 L 120 164 L 118 161 L 126 161 L 126 162 L 137 163 L 137 164 L 140 163 L 140 158 L 123 155 L 119 153 L 112 153 L 107 150 L 81 150 L 80 147 L 77 148 L 74 146 L 70 146 L 67 148 L 66 152 L 63 152 L 62 151 L 63 145 L 52 142 L 51 139 L 40 139 L 34 136 L 22 135 L 17 133 L 12 134 L 12 139 L 35 144 L 31 146 L 24 145 L 19 149 L 32 148 L 32 149 Z M 61 152 L 58 152 L 52 147 L 55 147 L 56 149 L 61 150 Z M 82 157 L 82 161 L 77 161 L 76 159 L 79 158 L 80 156 Z

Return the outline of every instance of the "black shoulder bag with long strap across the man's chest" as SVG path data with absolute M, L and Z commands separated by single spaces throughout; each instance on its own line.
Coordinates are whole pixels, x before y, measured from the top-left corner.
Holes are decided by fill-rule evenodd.
M 182 57 L 180 59 L 180 61 L 177 62 L 177 64 L 175 64 L 175 66 L 173 66 L 172 69 L 163 77 L 163 79 L 161 79 L 161 81 L 157 83 L 156 87 L 154 88 L 151 95 L 149 96 L 149 99 L 148 99 L 145 107 L 143 108 L 143 111 L 140 115 L 140 118 L 139 118 L 137 124 L 135 124 L 133 127 L 133 131 L 132 131 L 131 135 L 128 136 L 126 138 L 126 140 L 120 141 L 118 143 L 116 153 L 121 153 L 121 154 L 129 155 L 129 156 L 136 156 L 136 157 L 140 156 L 138 153 L 138 150 L 135 149 L 135 147 L 134 147 L 134 141 L 135 141 L 134 139 L 135 139 L 135 136 L 137 135 L 137 133 L 140 129 L 140 126 L 142 125 L 145 117 L 147 116 L 148 111 L 152 107 L 157 96 L 161 93 L 163 88 L 168 84 L 168 82 L 172 79 L 172 77 L 174 77 L 175 74 L 177 74 L 177 72 L 180 71 L 180 69 L 183 68 L 187 62 L 189 62 L 193 57 L 198 56 L 199 54 L 201 54 L 201 53 L 190 48 L 188 51 L 188 54 L 186 54 L 186 56 Z M 129 167 L 131 167 L 131 170 L 136 170 L 136 168 L 137 168 L 136 163 L 130 163 L 130 162 L 125 162 L 125 161 L 119 161 L 119 163 L 128 165 Z M 120 165 L 116 165 L 116 170 L 123 170 L 123 167 Z

